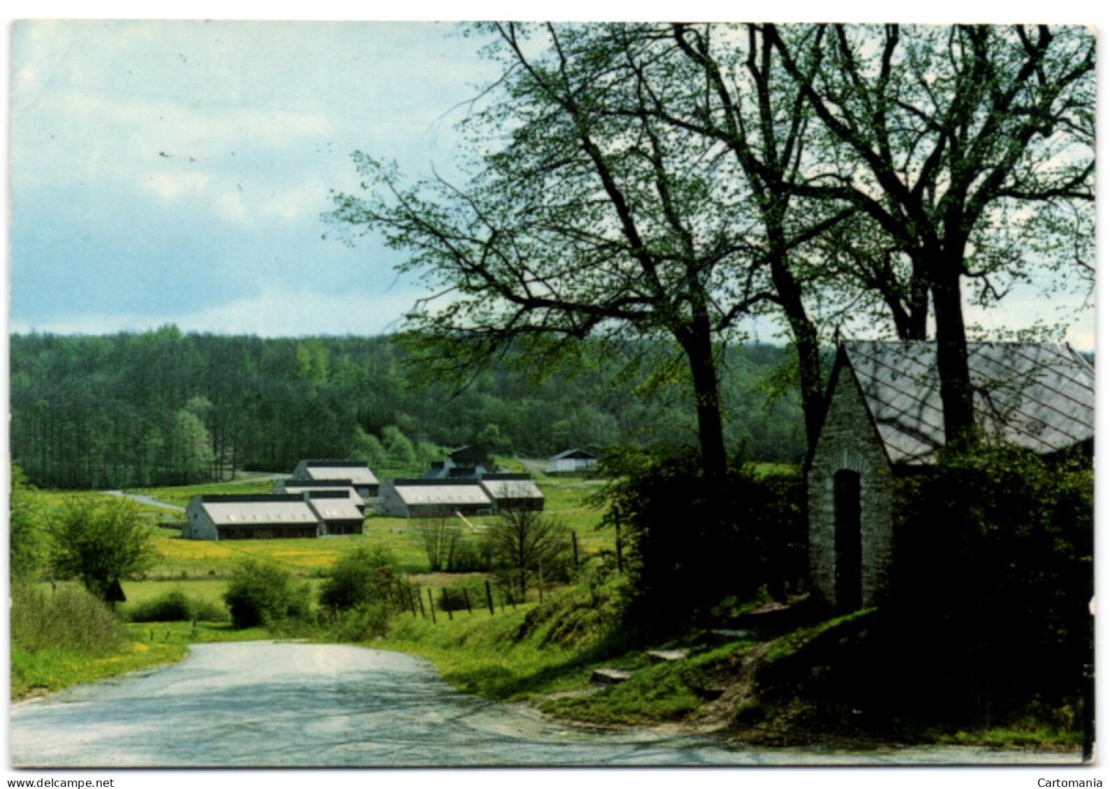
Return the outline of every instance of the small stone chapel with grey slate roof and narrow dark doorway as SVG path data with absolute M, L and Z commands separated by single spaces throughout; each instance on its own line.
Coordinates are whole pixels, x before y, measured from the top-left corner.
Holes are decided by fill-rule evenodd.
M 1094 373 L 1068 346 L 969 343 L 975 407 L 986 435 L 1050 455 L 1093 452 Z M 944 445 L 929 342 L 846 342 L 825 423 L 807 462 L 810 585 L 837 611 L 887 598 L 896 477 L 927 469 Z

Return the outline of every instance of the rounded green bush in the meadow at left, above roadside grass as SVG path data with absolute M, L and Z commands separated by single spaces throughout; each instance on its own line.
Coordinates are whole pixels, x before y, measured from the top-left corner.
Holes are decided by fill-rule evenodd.
M 77 578 L 101 599 L 157 558 L 152 529 L 128 500 L 74 498 L 51 515 L 47 532 L 50 570 L 60 578 Z

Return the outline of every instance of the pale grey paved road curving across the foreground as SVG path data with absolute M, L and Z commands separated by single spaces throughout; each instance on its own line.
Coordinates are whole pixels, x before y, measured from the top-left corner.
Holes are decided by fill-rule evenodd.
M 1013 763 L 970 748 L 855 753 L 597 734 L 482 701 L 424 661 L 357 647 L 195 645 L 188 659 L 14 705 L 17 767 Z M 1078 755 L 1042 756 L 1074 763 Z

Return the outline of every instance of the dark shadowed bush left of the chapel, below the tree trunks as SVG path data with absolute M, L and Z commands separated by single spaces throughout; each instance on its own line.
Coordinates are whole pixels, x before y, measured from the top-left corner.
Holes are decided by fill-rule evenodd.
M 783 598 L 806 577 L 805 485 L 797 472 L 733 465 L 724 484 L 697 458 L 624 453 L 601 500 L 620 534 L 632 620 L 666 628 L 728 596 Z

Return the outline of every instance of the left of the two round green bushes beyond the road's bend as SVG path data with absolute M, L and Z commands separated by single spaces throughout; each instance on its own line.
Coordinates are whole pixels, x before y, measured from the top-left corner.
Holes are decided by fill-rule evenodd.
M 309 586 L 278 565 L 245 562 L 223 595 L 235 627 L 281 627 L 312 616 Z

